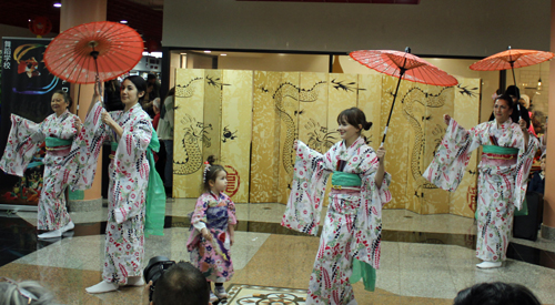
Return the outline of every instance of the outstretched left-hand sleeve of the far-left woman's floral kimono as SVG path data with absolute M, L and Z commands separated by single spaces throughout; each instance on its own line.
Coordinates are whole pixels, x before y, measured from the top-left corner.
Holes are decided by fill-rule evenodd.
M 39 144 L 44 141 L 44 134 L 41 132 L 42 124 L 11 114 L 11 130 L 0 160 L 0 169 L 8 174 L 23 176 Z

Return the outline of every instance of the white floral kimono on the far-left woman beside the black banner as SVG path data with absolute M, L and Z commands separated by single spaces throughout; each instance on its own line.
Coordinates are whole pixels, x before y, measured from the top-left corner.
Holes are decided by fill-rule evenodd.
M 68 224 L 71 218 L 65 209 L 64 187 L 57 176 L 64 157 L 70 152 L 71 143 L 77 134 L 78 116 L 68 110 L 57 116 L 47 116 L 37 124 L 16 114 L 11 114 L 11 131 L 6 151 L 0 161 L 0 169 L 6 173 L 23 176 L 32 156 L 42 142 L 47 142 L 43 159 L 43 186 L 39 199 L 37 228 L 53 231 Z

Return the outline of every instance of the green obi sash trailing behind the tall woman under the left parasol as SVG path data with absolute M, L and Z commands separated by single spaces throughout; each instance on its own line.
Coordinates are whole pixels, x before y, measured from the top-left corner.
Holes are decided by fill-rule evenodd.
M 112 151 L 118 150 L 118 142 L 111 142 Z M 149 161 L 149 184 L 147 186 L 147 215 L 144 220 L 144 234 L 164 235 L 164 217 L 165 217 L 165 189 L 162 179 L 157 172 L 154 155 L 152 151 L 160 150 L 160 141 L 158 134 L 152 129 L 152 138 L 147 148 L 147 159 Z

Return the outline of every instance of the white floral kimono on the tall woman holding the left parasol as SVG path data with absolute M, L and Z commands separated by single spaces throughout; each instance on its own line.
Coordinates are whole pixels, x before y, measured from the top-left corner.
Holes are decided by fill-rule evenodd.
M 142 276 L 150 173 L 147 149 L 153 133 L 150 116 L 139 103 L 127 112 L 110 112 L 123 129 L 121 138 L 102 123 L 100 114 L 103 111 L 101 103 L 97 102 L 87 115 L 83 130 L 68 157 L 69 170 L 61 175 L 75 190 L 90 189 L 102 143 L 104 140 L 112 142 L 102 277 L 108 283 L 124 285 L 129 276 Z

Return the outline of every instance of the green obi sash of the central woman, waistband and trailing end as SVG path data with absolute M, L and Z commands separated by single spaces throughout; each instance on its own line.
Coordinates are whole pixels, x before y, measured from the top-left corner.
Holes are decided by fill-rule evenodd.
M 357 174 L 351 174 L 345 172 L 333 172 L 332 185 L 341 186 L 361 186 L 362 180 Z M 376 270 L 370 264 L 362 261 L 353 258 L 353 274 L 349 278 L 351 284 L 354 284 L 361 278 L 364 282 L 364 289 L 373 292 L 376 287 Z

